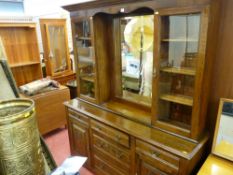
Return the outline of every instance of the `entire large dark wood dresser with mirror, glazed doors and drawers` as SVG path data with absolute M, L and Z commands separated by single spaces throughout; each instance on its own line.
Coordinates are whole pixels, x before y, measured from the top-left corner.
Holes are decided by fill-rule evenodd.
M 87 156 L 97 175 L 196 172 L 208 141 L 218 7 L 215 0 L 63 7 L 78 85 L 78 98 L 65 103 L 72 155 Z

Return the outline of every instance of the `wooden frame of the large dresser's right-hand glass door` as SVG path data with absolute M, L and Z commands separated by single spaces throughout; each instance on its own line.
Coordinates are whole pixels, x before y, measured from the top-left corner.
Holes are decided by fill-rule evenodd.
M 161 28 L 160 31 L 163 31 L 163 27 L 162 25 L 166 25 L 163 24 L 163 21 L 161 19 L 161 17 L 163 16 L 169 16 L 169 15 L 179 15 L 179 14 L 188 14 L 188 13 L 200 13 L 201 14 L 201 22 L 200 22 L 200 35 L 199 35 L 199 49 L 198 49 L 198 59 L 197 59 L 197 68 L 195 71 L 195 87 L 194 87 L 194 95 L 193 95 L 193 101 L 191 103 L 191 101 L 187 101 L 185 102 L 185 99 L 175 99 L 175 97 L 169 97 L 170 100 L 172 100 L 172 102 L 179 102 L 181 104 L 185 104 L 185 105 L 190 105 L 192 106 L 192 114 L 190 116 L 191 118 L 191 128 L 183 126 L 183 127 L 179 127 L 178 124 L 173 125 L 173 123 L 168 124 L 167 122 L 161 122 L 158 121 L 158 116 L 162 115 L 158 112 L 158 108 L 160 108 L 160 106 L 158 105 L 159 102 L 159 76 L 160 76 L 160 72 L 158 70 L 160 70 L 159 68 L 159 64 L 160 64 L 160 59 L 162 59 L 162 56 L 164 55 L 162 52 L 158 52 L 160 50 L 160 47 L 157 46 L 157 44 L 160 44 L 160 42 L 157 42 L 157 44 L 155 44 L 155 55 L 156 55 L 156 61 L 155 61 L 155 69 L 157 70 L 156 72 L 156 77 L 154 78 L 155 81 L 155 87 L 154 87 L 154 102 L 157 102 L 156 104 L 154 104 L 155 108 L 153 111 L 153 116 L 155 116 L 155 119 L 152 119 L 153 123 L 155 126 L 158 126 L 160 128 L 163 128 L 165 130 L 169 130 L 175 133 L 178 133 L 180 135 L 184 135 L 186 137 L 190 137 L 192 139 L 197 140 L 200 136 L 201 133 L 203 132 L 204 126 L 205 126 L 205 112 L 206 112 L 206 106 L 205 103 L 201 103 L 201 100 L 204 102 L 206 100 L 206 98 L 208 97 L 207 94 L 207 89 L 206 89 L 206 83 L 208 82 L 208 80 L 204 77 L 209 77 L 210 72 L 207 71 L 209 68 L 208 66 L 211 66 L 211 60 L 210 59 L 206 59 L 206 43 L 207 43 L 207 30 L 208 30 L 208 23 L 209 23 L 209 8 L 208 7 L 199 7 L 199 6 L 194 6 L 194 7 L 182 7 L 182 8 L 169 8 L 169 9 L 161 9 L 158 10 L 159 15 L 155 15 L 155 25 L 158 25 L 159 28 Z M 165 26 L 166 27 L 166 26 Z M 165 33 L 163 31 L 163 33 Z M 162 33 L 161 33 L 162 34 Z M 162 34 L 162 37 L 163 34 Z M 155 34 L 155 41 L 161 41 L 160 36 L 157 36 Z M 162 46 L 161 46 L 162 47 Z M 162 48 L 161 48 L 162 50 Z M 160 53 L 160 55 L 158 55 L 157 53 Z M 206 66 L 206 63 L 208 62 L 208 65 Z M 205 81 L 204 81 L 205 80 Z M 206 82 L 207 81 L 207 82 Z M 205 92 L 205 94 L 203 94 L 203 91 Z M 203 109 L 204 108 L 204 109 Z M 183 109 L 184 111 L 185 109 Z M 204 113 L 204 114 L 203 114 Z

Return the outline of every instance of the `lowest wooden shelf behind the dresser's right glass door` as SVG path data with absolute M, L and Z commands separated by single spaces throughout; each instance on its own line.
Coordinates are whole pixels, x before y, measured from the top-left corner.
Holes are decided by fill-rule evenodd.
M 182 105 L 193 106 L 193 98 L 189 96 L 177 95 L 177 94 L 163 94 L 160 96 L 160 99 L 169 102 L 179 103 Z

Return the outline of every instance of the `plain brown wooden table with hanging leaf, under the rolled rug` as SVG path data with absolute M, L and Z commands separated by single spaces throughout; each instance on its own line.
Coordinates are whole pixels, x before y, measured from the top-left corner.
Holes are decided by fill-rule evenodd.
M 66 113 L 63 103 L 70 100 L 69 88 L 60 86 L 57 90 L 27 98 L 35 101 L 38 128 L 42 135 L 66 125 Z

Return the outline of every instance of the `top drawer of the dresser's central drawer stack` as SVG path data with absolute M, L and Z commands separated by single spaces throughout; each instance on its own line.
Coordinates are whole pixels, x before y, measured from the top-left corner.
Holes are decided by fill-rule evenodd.
M 127 134 L 94 120 L 91 120 L 91 128 L 111 140 L 129 148 L 129 136 Z

